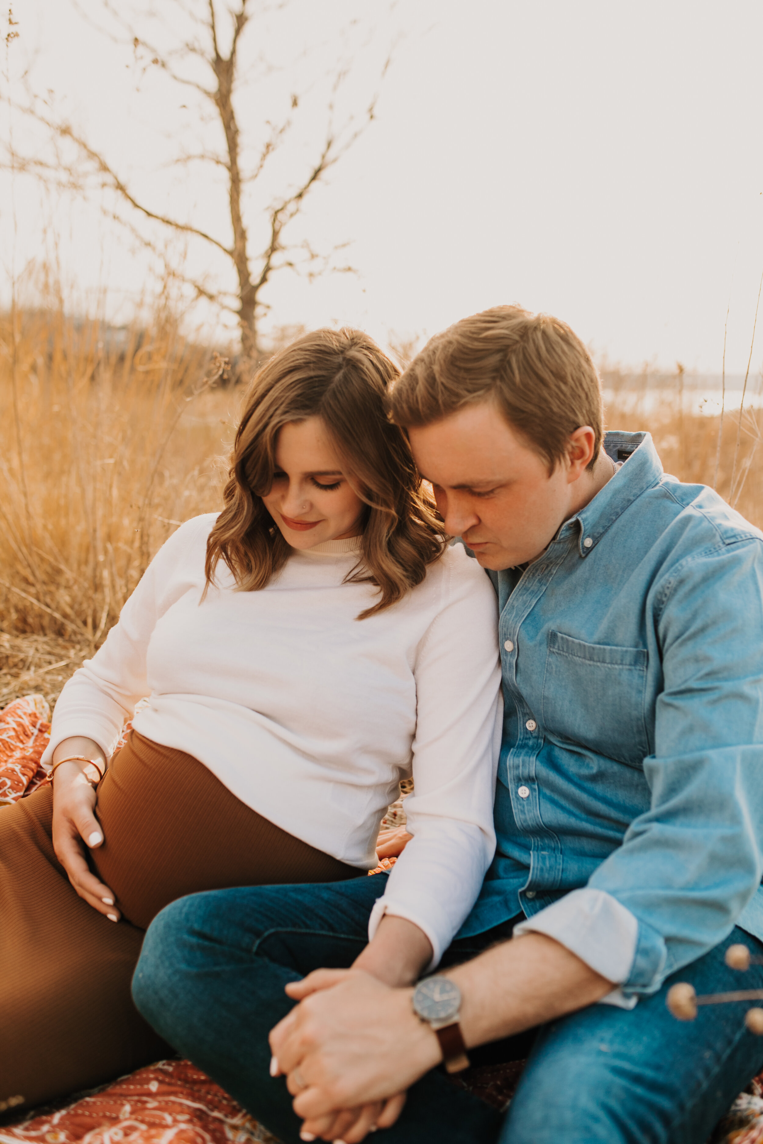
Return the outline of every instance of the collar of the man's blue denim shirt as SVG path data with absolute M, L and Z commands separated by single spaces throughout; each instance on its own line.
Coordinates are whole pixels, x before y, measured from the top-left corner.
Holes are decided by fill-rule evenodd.
M 601 492 L 575 516 L 565 521 L 555 537 L 555 540 L 566 540 L 575 529 L 579 529 L 578 550 L 582 557 L 593 553 L 606 530 L 642 493 L 659 484 L 663 472 L 662 462 L 649 432 L 613 430 L 605 435 L 603 447 L 606 455 L 615 463 L 621 459 L 618 458 L 618 451 L 621 454 L 628 450 L 633 452 Z

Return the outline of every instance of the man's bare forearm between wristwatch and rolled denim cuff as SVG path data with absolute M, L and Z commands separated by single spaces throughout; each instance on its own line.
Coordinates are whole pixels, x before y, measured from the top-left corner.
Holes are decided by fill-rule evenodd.
M 614 988 L 542 934 L 493 946 L 446 976 L 461 990 L 461 1030 L 469 1047 L 583 1009 Z

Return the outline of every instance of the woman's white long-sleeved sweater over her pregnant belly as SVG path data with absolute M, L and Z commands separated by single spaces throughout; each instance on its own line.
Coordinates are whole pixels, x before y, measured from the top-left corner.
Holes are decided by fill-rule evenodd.
M 377 589 L 343 582 L 359 541 L 339 540 L 295 550 L 261 591 L 236 591 L 221 562 L 201 602 L 214 521 L 188 521 L 159 550 L 64 688 L 45 760 L 75 734 L 109 756 L 148 697 L 136 731 L 193 755 L 271 823 L 360 869 L 375 865 L 379 823 L 413 773 L 414 839 L 372 931 L 384 911 L 407 917 L 436 962 L 495 845 L 501 676 L 487 577 L 448 548 L 403 601 L 358 620 Z

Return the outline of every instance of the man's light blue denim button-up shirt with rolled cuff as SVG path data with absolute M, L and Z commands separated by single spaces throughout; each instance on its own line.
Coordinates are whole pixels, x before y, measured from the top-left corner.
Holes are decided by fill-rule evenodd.
M 734 924 L 763 939 L 763 534 L 649 434 L 604 447 L 604 488 L 491 573 L 498 849 L 459 937 L 524 912 L 635 1001 Z

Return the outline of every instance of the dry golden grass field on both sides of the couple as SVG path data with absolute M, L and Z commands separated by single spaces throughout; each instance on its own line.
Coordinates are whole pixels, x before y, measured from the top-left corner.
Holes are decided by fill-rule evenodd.
M 692 411 L 683 375 L 604 371 L 607 426 L 763 526 L 757 411 Z M 750 392 L 752 392 L 750 386 Z M 0 318 L 0 707 L 63 683 L 176 525 L 220 506 L 240 388 L 168 308 L 114 331 L 54 308 Z M 655 399 L 655 395 L 658 398 Z

